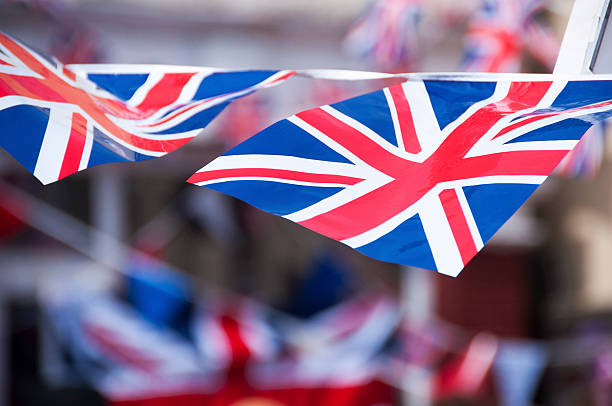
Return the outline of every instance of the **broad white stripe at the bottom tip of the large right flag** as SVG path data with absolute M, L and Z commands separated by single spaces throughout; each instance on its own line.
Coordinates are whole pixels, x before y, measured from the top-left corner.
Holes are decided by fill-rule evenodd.
M 437 193 L 428 193 L 421 199 L 419 217 L 438 272 L 449 276 L 459 275 L 463 260 Z

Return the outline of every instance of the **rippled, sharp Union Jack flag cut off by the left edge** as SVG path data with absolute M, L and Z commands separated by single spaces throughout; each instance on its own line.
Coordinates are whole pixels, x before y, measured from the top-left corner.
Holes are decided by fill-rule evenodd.
M 0 32 L 0 145 L 42 183 L 165 155 L 293 71 L 67 65 Z

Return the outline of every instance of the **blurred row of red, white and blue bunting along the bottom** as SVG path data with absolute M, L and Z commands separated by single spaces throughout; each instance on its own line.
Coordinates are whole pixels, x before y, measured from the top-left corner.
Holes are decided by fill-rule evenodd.
M 584 339 L 560 348 L 414 323 L 385 291 L 297 319 L 239 296 L 198 300 L 188 279 L 146 261 L 123 282 L 121 296 L 78 285 L 41 295 L 43 348 L 55 352 L 43 356 L 55 363 L 42 366 L 46 378 L 90 386 L 110 405 L 380 406 L 399 389 L 526 406 L 556 357 L 581 349 L 561 365 L 595 373 L 609 347 L 587 354 Z

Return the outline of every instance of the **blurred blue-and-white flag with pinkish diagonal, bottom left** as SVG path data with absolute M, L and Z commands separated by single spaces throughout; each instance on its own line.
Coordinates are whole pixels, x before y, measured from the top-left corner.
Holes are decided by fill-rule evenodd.
M 76 371 L 111 401 L 212 391 L 218 383 L 190 342 L 119 300 L 74 292 L 47 308 Z

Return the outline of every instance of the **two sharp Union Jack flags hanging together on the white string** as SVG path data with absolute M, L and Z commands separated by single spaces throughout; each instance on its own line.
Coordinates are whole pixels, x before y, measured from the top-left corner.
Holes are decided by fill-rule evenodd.
M 6 34 L 0 61 L 0 145 L 45 184 L 166 155 L 234 100 L 294 75 L 404 80 L 281 120 L 188 182 L 452 276 L 612 114 L 605 75 L 62 65 Z

